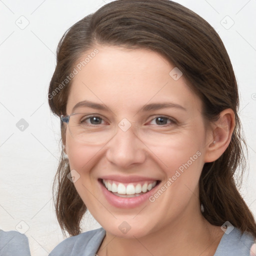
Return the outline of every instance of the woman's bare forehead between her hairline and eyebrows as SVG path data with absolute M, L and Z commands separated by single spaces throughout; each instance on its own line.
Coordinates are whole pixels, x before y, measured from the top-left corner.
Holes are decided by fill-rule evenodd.
M 86 99 L 131 111 L 147 102 L 161 101 L 200 108 L 200 99 L 188 87 L 182 73 L 157 52 L 116 46 L 97 49 L 98 53 L 89 61 L 87 58 L 72 78 L 67 112 Z M 77 63 L 82 63 L 88 54 L 82 55 Z

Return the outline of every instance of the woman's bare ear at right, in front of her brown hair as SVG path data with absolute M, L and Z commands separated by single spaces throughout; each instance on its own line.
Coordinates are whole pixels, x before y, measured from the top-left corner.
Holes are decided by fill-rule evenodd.
M 219 118 L 208 130 L 204 162 L 212 162 L 218 159 L 230 143 L 234 130 L 235 117 L 231 108 L 220 112 Z

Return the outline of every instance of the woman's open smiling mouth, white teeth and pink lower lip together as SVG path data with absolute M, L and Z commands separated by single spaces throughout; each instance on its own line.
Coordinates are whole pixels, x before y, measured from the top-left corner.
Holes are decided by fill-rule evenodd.
M 122 183 L 99 178 L 101 191 L 106 201 L 118 208 L 132 208 L 146 202 L 155 193 L 161 180 L 143 180 Z

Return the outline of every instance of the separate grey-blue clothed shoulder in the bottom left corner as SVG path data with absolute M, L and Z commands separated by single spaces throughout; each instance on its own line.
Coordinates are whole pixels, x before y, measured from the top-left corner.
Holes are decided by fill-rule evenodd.
M 29 256 L 30 250 L 28 239 L 24 234 L 17 231 L 0 230 L 0 256 L 23 255 Z

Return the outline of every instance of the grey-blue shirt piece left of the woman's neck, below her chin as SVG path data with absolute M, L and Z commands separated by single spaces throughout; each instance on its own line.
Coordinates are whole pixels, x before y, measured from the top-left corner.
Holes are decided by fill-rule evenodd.
M 75 236 L 70 236 L 60 242 L 49 254 L 49 256 L 58 255 L 93 255 L 101 244 L 105 236 L 105 230 L 100 227 Z

